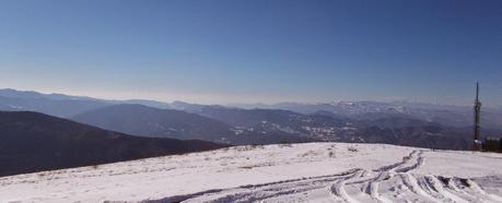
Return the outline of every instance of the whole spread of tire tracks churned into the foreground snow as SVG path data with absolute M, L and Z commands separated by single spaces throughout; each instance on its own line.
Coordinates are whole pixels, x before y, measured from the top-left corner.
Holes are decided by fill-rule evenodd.
M 370 201 L 387 203 L 401 200 L 399 195 L 424 202 L 502 202 L 501 196 L 487 193 L 469 179 L 466 180 L 465 187 L 459 187 L 455 181 L 460 179 L 455 177 L 412 175 L 410 171 L 423 165 L 423 153 L 424 150 L 413 151 L 402 157 L 401 162 L 380 167 L 373 171 L 354 168 L 328 176 L 246 184 L 144 202 L 273 202 L 277 200 L 289 202 L 308 200 L 308 193 L 313 191 L 316 191 L 316 194 L 320 191 L 326 200 L 350 203 Z M 393 191 L 397 193 L 394 195 L 395 199 L 388 196 L 390 192 L 386 190 L 393 186 Z M 380 193 L 381 190 L 384 193 Z M 297 199 L 291 199 L 291 196 Z

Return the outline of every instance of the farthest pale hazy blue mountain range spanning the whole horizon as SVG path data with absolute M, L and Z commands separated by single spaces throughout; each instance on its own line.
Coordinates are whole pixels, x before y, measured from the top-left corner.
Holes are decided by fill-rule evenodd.
M 0 110 L 32 110 L 61 118 L 71 118 L 87 110 L 117 104 L 140 104 L 162 109 L 197 112 L 207 105 L 183 101 L 162 103 L 147 99 L 107 100 L 62 94 L 40 94 L 30 91 L 0 89 Z M 371 120 L 383 117 L 407 117 L 447 127 L 472 126 L 472 107 L 433 105 L 407 101 L 340 101 L 326 104 L 280 103 L 276 105 L 209 106 L 241 109 L 281 109 L 303 115 L 330 114 L 331 117 Z M 483 107 L 481 122 L 486 129 L 502 130 L 502 108 Z

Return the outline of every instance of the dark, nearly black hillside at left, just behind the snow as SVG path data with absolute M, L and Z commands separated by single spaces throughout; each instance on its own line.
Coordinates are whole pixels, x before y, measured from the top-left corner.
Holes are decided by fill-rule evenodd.
M 224 147 L 131 136 L 38 112 L 0 111 L 0 176 Z

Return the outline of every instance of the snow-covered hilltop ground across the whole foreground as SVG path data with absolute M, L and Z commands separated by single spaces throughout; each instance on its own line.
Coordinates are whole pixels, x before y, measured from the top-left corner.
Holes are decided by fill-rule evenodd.
M 0 202 L 502 202 L 502 154 L 238 146 L 0 178 Z

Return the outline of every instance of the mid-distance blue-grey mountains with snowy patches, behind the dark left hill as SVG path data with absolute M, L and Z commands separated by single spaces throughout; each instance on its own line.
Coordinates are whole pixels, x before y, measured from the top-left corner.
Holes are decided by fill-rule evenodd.
M 469 133 L 406 117 L 355 120 L 288 110 L 219 106 L 203 106 L 197 114 L 190 114 L 142 105 L 116 105 L 90 110 L 72 119 L 124 133 L 227 144 L 331 141 L 451 150 L 470 146 Z

